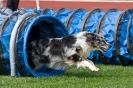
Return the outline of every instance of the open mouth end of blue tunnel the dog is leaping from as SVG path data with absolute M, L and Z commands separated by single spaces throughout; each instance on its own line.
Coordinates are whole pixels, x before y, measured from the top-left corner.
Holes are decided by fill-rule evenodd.
M 25 11 L 24 11 L 25 12 Z M 6 13 L 6 12 L 4 12 Z M 68 36 L 68 29 L 53 16 L 38 15 L 34 12 L 21 13 L 21 10 L 9 14 L 1 14 L 3 31 L 1 32 L 1 74 L 18 76 L 49 77 L 64 73 L 62 70 L 40 68 L 34 72 L 27 61 L 26 46 L 36 39 L 59 38 Z M 10 52 L 10 53 L 9 53 Z M 15 69 L 14 69 L 15 68 Z M 13 74 L 12 74 L 13 73 Z

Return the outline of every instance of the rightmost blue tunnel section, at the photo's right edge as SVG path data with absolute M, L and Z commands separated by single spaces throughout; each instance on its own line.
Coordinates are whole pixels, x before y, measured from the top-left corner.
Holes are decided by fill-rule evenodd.
M 119 57 L 119 60 L 123 66 L 133 65 L 133 56 L 131 55 L 131 52 L 129 52 L 131 51 L 130 47 L 128 47 L 129 40 L 131 40 L 131 37 L 129 38 L 129 34 L 132 33 L 131 31 L 132 14 L 133 14 L 133 9 L 128 9 L 124 11 L 120 15 L 118 22 L 116 24 L 116 30 L 114 36 L 115 49 Z

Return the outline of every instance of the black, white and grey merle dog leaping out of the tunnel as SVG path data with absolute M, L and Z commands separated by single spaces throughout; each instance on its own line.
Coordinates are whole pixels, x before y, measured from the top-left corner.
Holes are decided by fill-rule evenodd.
M 41 66 L 66 69 L 72 65 L 98 71 L 94 63 L 87 59 L 93 50 L 105 52 L 109 44 L 94 33 L 80 32 L 65 38 L 40 39 L 28 44 L 28 62 L 33 70 Z

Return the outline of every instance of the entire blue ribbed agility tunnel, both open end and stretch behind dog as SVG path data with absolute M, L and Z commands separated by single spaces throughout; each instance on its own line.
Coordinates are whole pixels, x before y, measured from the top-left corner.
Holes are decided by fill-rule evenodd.
M 81 31 L 98 33 L 111 48 L 105 53 L 93 51 L 88 59 L 94 63 L 133 65 L 133 10 L 119 11 L 99 8 L 86 11 L 78 8 L 0 9 L 0 74 L 12 76 L 49 77 L 65 71 L 46 67 L 34 72 L 27 61 L 26 47 L 36 39 L 65 37 Z

